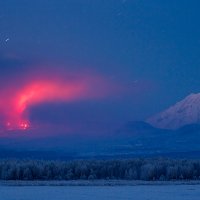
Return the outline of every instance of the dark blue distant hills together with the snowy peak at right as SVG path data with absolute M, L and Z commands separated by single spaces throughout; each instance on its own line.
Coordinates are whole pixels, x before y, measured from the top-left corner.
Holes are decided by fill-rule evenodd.
M 192 94 L 166 111 L 130 121 L 107 136 L 1 138 L 0 157 L 77 159 L 181 157 L 200 158 L 200 94 Z

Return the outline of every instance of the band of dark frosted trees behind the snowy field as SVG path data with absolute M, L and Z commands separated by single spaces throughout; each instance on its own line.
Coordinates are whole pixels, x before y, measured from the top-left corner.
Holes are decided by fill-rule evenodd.
M 0 160 L 1 180 L 200 180 L 200 160 Z

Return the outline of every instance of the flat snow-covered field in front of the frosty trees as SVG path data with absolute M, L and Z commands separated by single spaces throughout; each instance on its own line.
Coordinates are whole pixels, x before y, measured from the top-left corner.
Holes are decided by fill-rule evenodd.
M 0 186 L 0 200 L 199 200 L 200 185 Z

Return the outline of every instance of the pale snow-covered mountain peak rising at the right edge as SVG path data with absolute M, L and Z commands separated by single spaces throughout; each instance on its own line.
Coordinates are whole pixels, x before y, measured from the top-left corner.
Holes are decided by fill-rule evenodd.
M 200 93 L 190 94 L 182 101 L 147 120 L 162 129 L 178 129 L 189 124 L 200 124 Z

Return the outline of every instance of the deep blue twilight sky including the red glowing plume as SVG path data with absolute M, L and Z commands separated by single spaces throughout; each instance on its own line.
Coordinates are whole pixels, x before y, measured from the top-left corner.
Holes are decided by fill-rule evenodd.
M 1 1 L 1 129 L 112 131 L 200 92 L 199 6 Z

